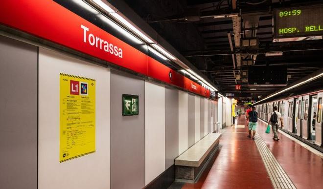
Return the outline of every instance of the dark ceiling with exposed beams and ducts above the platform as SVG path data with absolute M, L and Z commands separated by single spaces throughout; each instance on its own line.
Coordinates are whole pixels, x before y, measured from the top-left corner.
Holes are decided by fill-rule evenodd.
M 242 73 L 248 66 L 242 65 L 242 60 L 253 60 L 256 66 L 287 66 L 287 84 L 323 67 L 323 40 L 273 42 L 272 26 L 273 8 L 311 5 L 323 0 L 125 1 L 222 93 L 233 93 L 241 100 L 256 100 L 258 96 L 262 99 L 284 87 L 249 86 L 243 80 Z M 220 15 L 231 17 L 214 18 Z M 259 47 L 241 49 L 240 39 L 245 37 L 257 37 Z M 269 51 L 283 51 L 283 55 L 266 57 Z M 241 91 L 235 90 L 235 84 L 241 84 Z

